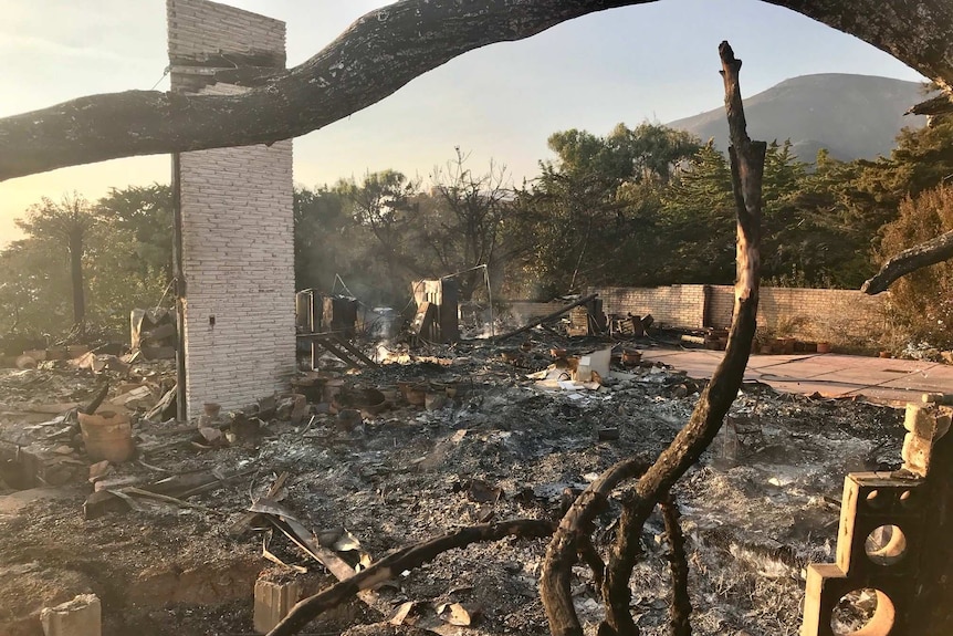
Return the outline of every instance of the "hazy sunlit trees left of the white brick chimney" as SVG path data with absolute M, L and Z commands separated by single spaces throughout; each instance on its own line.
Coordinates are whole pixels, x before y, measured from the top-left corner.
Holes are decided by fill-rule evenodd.
M 28 238 L 0 252 L 0 331 L 56 337 L 83 322 L 125 340 L 129 311 L 168 286 L 170 219 L 167 186 L 114 189 L 96 205 L 42 199 L 18 221 Z

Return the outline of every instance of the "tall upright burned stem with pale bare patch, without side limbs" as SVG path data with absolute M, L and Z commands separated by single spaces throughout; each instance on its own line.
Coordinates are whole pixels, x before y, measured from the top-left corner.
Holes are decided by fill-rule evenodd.
M 739 87 L 741 60 L 735 59 L 727 42 L 721 43 L 719 54 L 731 133 L 732 189 L 737 212 L 737 281 L 732 325 L 724 358 L 699 397 L 689 423 L 642 476 L 622 510 L 618 539 L 612 546 L 606 567 L 606 581 L 603 584 L 603 599 L 607 613 L 601 627 L 604 634 L 638 634 L 629 612 L 629 578 L 636 560 L 641 554 L 639 541 L 642 526 L 656 504 L 685 470 L 699 460 L 721 428 L 724 416 L 741 387 L 757 326 L 761 185 L 766 144 L 752 142 L 747 136 Z

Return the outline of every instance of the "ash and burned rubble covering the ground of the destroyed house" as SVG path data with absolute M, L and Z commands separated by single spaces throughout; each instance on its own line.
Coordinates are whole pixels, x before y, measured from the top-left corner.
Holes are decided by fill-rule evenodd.
M 22 576 L 44 582 L 42 599 L 4 592 L 11 599 L 4 629 L 39 634 L 43 606 L 94 593 L 104 634 L 211 633 L 228 624 L 235 632 L 263 630 L 284 617 L 292 598 L 321 590 L 342 594 L 345 588 L 328 587 L 334 569 L 367 569 L 371 577 L 388 554 L 399 559 L 402 549 L 447 532 L 457 536 L 453 528 L 496 528 L 485 531 L 492 534 L 506 528 L 494 524 L 532 519 L 549 524 L 534 531 L 547 535 L 609 467 L 657 455 L 704 388 L 704 382 L 637 361 L 633 352 L 653 346 L 647 336 L 566 338 L 542 327 L 521 336 L 515 347 L 486 341 L 364 345 L 378 366 L 348 369 L 335 356 L 318 357 L 318 368 L 301 373 L 293 393 L 238 411 L 209 404 L 189 424 L 144 417 L 166 394 L 170 362 L 98 373 L 55 362 L 4 372 L 2 437 L 12 444 L 4 482 L 8 498 L 31 503 L 4 512 L 0 523 L 9 540 L 0 551 L 6 567 L 28 567 Z M 501 355 L 514 350 L 519 366 Z M 590 388 L 577 386 L 570 366 L 576 374 L 589 368 Z M 562 382 L 569 388 L 546 380 L 557 371 L 568 374 Z M 91 457 L 78 418 L 69 415 L 91 405 L 105 379 L 109 388 L 93 415 L 118 413 L 122 403 L 136 452 L 127 461 Z M 731 441 L 716 441 L 674 489 L 692 565 L 693 626 L 701 634 L 767 633 L 778 621 L 798 624 L 803 571 L 834 555 L 838 481 L 851 470 L 900 469 L 904 431 L 891 408 L 782 395 L 762 385 L 742 388 L 729 421 Z M 70 470 L 56 479 L 50 466 Z M 12 475 L 20 476 L 15 483 Z M 57 499 L 44 499 L 51 492 Z M 604 512 L 588 522 L 597 551 L 618 532 L 612 519 L 625 492 L 607 489 Z M 666 523 L 664 514 L 648 519 L 646 560 L 632 580 L 645 634 L 667 629 Z M 134 539 L 144 525 L 161 528 L 163 541 Z M 50 545 L 53 536 L 61 546 L 50 557 L 30 548 Z M 108 548 L 117 541 L 125 554 Z M 163 548 L 169 541 L 190 548 L 170 554 Z M 338 550 L 352 545 L 358 548 Z M 95 564 L 83 569 L 84 583 L 73 578 L 72 561 L 61 562 L 63 550 Z M 373 604 L 323 612 L 317 624 L 547 634 L 536 587 L 545 551 L 546 540 L 505 539 L 428 557 L 368 588 Z M 168 569 L 146 565 L 156 559 Z M 597 575 L 573 566 L 569 576 L 580 619 L 601 621 Z M 181 591 L 160 581 L 175 581 Z M 154 601 L 144 597 L 147 585 Z M 214 592 L 201 592 L 202 585 Z M 747 601 L 739 601 L 742 591 Z M 232 617 L 223 619 L 222 608 Z

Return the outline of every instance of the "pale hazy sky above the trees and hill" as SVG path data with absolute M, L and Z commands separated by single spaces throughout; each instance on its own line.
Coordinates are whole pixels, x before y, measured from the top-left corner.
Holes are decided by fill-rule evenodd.
M 310 58 L 386 1 L 226 0 L 287 23 L 289 65 Z M 0 0 L 0 116 L 73 97 L 168 88 L 164 0 Z M 504 164 L 514 180 L 548 158 L 566 128 L 670 122 L 719 106 L 718 44 L 744 61 L 746 96 L 796 75 L 861 73 L 920 81 L 886 53 L 754 0 L 661 0 L 590 14 L 528 40 L 467 53 L 395 95 L 295 142 L 294 178 L 315 186 L 395 168 L 425 179 L 454 154 Z M 0 183 L 0 244 L 12 219 L 73 190 L 168 183 L 167 156 L 118 159 Z

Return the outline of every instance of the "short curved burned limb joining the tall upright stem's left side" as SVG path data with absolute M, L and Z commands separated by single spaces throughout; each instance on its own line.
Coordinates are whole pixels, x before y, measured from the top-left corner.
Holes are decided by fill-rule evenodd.
M 641 458 L 620 461 L 609 468 L 589 484 L 563 517 L 555 536 L 546 549 L 543 562 L 543 573 L 540 577 L 540 596 L 549 621 L 549 633 L 553 636 L 582 636 L 583 626 L 573 607 L 573 594 L 569 586 L 569 574 L 576 562 L 576 554 L 583 552 L 586 562 L 594 567 L 597 578 L 604 576 L 604 564 L 595 549 L 591 548 L 589 535 L 591 523 L 608 500 L 609 493 L 619 483 L 638 477 L 648 468 L 648 462 Z M 591 552 L 589 550 L 591 549 Z M 598 565 L 594 564 L 598 561 Z M 598 570 L 596 569 L 598 567 Z

